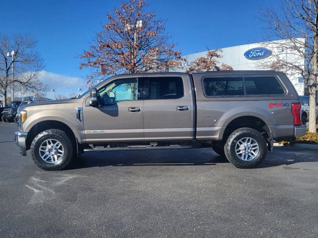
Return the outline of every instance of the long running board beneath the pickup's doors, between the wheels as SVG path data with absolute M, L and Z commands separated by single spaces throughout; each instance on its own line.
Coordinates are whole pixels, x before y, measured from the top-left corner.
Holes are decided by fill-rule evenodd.
M 130 151 L 130 150 L 180 150 L 180 149 L 191 149 L 191 145 L 167 145 L 167 146 L 127 146 L 127 147 L 95 147 L 86 148 L 84 152 L 92 151 Z

